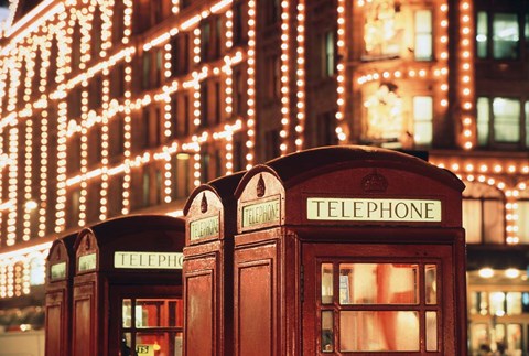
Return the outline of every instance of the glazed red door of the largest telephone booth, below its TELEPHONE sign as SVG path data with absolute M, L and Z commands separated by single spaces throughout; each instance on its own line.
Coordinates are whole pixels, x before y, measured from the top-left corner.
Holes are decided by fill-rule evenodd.
M 456 355 L 453 253 L 451 245 L 304 244 L 303 355 Z

